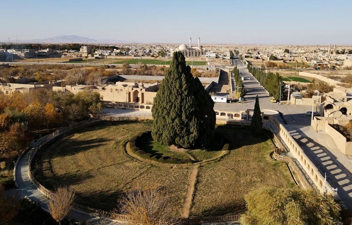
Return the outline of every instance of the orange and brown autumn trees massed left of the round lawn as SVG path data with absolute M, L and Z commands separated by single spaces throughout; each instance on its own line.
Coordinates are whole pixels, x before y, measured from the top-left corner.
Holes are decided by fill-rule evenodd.
M 32 131 L 86 119 L 101 108 L 100 94 L 92 90 L 76 95 L 46 89 L 0 94 L 0 158 L 11 152 L 20 154 Z

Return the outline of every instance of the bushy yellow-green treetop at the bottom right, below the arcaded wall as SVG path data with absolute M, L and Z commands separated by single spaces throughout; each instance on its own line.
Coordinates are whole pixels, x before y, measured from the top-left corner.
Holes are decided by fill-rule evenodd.
M 342 225 L 340 205 L 313 189 L 262 187 L 245 201 L 243 225 Z

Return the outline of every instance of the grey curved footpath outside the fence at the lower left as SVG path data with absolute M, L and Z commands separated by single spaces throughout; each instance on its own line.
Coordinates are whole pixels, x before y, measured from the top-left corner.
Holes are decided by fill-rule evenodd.
M 16 189 L 22 198 L 27 196 L 30 200 L 36 202 L 42 209 L 48 211 L 47 198 L 40 192 L 40 190 L 35 186 L 29 179 L 28 175 L 28 159 L 33 151 L 30 148 L 22 157 L 19 159 L 16 165 L 16 182 L 18 188 Z M 87 221 L 89 224 L 106 224 L 106 225 L 122 225 L 124 223 L 119 223 L 116 221 L 109 220 L 107 218 L 100 218 L 93 215 L 89 215 L 85 212 L 78 210 L 71 210 L 68 214 L 69 219 L 74 219 L 75 221 Z

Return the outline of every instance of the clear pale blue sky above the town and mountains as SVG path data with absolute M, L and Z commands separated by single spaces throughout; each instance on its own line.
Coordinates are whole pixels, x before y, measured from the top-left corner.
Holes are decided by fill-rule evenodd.
M 352 44 L 352 0 L 0 0 L 0 40 Z

